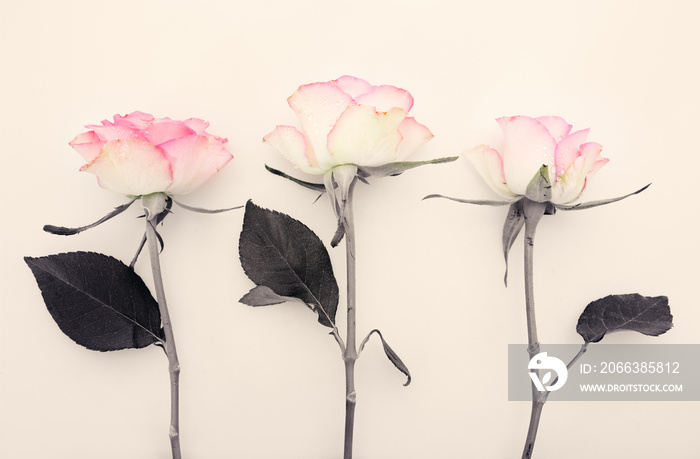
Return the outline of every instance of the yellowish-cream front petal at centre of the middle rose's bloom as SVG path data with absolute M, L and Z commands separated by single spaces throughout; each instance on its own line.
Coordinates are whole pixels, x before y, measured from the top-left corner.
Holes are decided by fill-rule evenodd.
M 366 105 L 348 106 L 328 135 L 334 164 L 379 166 L 395 161 L 401 142 L 398 128 L 406 115 L 400 108 L 378 113 Z M 323 162 L 319 165 L 327 170 Z

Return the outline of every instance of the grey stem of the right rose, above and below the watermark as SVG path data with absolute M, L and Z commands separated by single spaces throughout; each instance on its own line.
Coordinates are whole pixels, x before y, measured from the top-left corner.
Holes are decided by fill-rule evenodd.
M 524 198 L 523 212 L 525 214 L 525 311 L 527 316 L 527 352 L 530 359 L 540 353 L 540 343 L 537 339 L 537 321 L 535 320 L 535 291 L 533 276 L 533 254 L 535 244 L 535 230 L 537 224 L 544 215 L 546 203 L 535 202 Z M 532 384 L 532 410 L 530 412 L 530 426 L 527 429 L 527 438 L 523 448 L 522 459 L 532 457 L 537 437 L 537 428 L 540 424 L 540 416 L 546 399 L 540 398 L 540 393 Z

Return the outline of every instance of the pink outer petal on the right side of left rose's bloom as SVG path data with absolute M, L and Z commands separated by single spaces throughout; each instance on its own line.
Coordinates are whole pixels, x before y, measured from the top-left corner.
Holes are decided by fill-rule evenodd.
M 173 195 L 199 188 L 233 158 L 224 145 L 211 136 L 190 135 L 159 147 L 172 167 L 173 181 L 167 192 Z

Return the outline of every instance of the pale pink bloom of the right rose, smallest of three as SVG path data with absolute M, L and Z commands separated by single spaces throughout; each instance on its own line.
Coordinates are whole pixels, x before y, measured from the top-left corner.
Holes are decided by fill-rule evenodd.
M 558 116 L 513 116 L 496 121 L 505 136 L 503 153 L 479 145 L 465 156 L 486 183 L 506 198 L 525 196 L 528 184 L 547 166 L 550 201 L 570 203 L 608 162 L 601 156 L 600 144 L 586 142 L 588 129 L 571 132 L 572 126 Z

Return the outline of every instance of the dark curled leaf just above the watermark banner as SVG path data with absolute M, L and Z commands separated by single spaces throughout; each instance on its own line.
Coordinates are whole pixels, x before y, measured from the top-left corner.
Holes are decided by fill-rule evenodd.
M 633 330 L 659 336 L 673 327 L 668 297 L 609 295 L 586 306 L 576 331 L 586 343 L 597 343 L 607 332 Z

